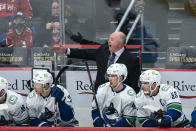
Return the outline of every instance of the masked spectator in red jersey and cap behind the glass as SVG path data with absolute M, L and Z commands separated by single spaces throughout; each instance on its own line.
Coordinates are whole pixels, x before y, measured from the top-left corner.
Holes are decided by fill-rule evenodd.
M 6 35 L 7 47 L 32 47 L 33 32 L 26 24 L 26 17 L 18 12 L 12 22 L 11 29 Z

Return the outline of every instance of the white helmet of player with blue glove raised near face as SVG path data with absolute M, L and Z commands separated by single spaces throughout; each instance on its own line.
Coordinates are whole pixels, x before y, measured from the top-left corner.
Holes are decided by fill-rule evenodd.
M 42 84 L 44 87 L 46 84 L 49 84 L 51 86 L 53 83 L 53 77 L 49 72 L 39 71 L 33 76 L 33 82 Z

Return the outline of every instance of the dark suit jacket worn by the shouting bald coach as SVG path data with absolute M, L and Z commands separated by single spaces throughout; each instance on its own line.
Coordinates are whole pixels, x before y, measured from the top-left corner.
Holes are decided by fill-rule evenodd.
M 104 44 L 96 50 L 88 49 L 70 49 L 71 53 L 68 57 L 70 58 L 79 58 L 87 60 L 95 60 L 97 64 L 97 77 L 95 81 L 95 91 L 99 85 L 106 82 L 105 73 L 107 70 L 108 58 L 110 55 L 108 44 Z M 139 59 L 128 52 L 126 49 L 121 54 L 116 63 L 123 63 L 128 69 L 127 79 L 124 81 L 125 84 L 131 86 L 136 93 L 139 91 L 138 79 L 140 76 L 140 64 Z

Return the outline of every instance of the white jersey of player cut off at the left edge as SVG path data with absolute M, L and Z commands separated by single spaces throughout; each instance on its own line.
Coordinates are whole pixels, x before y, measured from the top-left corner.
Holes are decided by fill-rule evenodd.
M 3 116 L 5 120 L 9 121 L 9 125 L 27 124 L 28 113 L 25 107 L 25 100 L 21 95 L 7 90 L 7 97 L 4 104 L 8 106 L 8 109 L 0 110 L 0 116 Z

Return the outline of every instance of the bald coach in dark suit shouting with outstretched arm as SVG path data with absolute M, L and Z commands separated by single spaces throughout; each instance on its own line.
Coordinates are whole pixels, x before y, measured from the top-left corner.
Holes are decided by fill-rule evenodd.
M 56 53 L 66 53 L 70 58 L 94 60 L 97 64 L 97 77 L 95 90 L 98 86 L 108 81 L 105 77 L 109 63 L 123 63 L 128 68 L 128 76 L 125 84 L 131 86 L 135 92 L 139 91 L 138 79 L 140 75 L 139 59 L 125 49 L 125 34 L 114 32 L 110 35 L 108 43 L 101 45 L 96 50 L 67 49 L 64 46 L 55 45 L 52 50 Z M 111 62 L 112 61 L 112 62 Z

